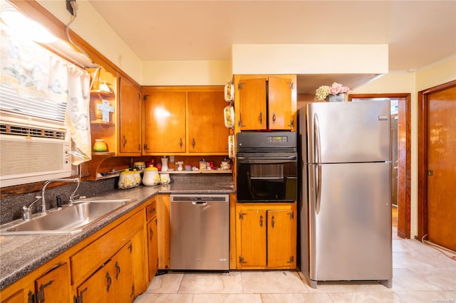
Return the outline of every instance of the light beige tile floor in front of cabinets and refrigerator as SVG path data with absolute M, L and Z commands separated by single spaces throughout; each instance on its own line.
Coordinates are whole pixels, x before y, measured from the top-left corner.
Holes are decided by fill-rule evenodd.
M 375 282 L 307 285 L 294 271 L 168 272 L 135 303 L 456 302 L 456 260 L 393 226 L 393 287 Z

